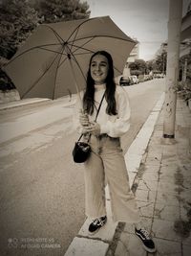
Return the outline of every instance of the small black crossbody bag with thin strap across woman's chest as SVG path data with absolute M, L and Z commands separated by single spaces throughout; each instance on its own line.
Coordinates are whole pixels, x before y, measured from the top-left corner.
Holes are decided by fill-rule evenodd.
M 102 105 L 104 96 L 105 96 L 105 92 L 104 92 L 102 99 L 100 101 L 100 104 L 98 106 L 98 109 L 96 112 L 96 119 L 97 119 L 100 107 Z M 95 122 L 96 122 L 96 119 L 95 119 Z M 80 139 L 82 138 L 83 135 L 84 134 L 81 134 L 80 137 L 78 138 L 78 140 L 74 144 L 73 159 L 74 159 L 75 163 L 84 163 L 89 158 L 90 153 L 91 153 L 91 147 L 89 144 L 91 134 L 89 135 L 87 142 L 80 141 Z

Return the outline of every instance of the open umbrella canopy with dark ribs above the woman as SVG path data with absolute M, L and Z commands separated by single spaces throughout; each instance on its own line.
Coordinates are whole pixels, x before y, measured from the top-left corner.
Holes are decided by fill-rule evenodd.
M 89 60 L 109 52 L 122 73 L 136 42 L 109 16 L 39 25 L 4 70 L 21 98 L 56 99 L 85 87 Z

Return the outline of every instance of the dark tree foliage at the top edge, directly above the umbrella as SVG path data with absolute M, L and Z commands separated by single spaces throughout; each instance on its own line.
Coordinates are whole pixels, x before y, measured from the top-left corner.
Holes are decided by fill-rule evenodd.
M 79 0 L 33 0 L 41 23 L 88 18 L 90 11 L 87 2 Z

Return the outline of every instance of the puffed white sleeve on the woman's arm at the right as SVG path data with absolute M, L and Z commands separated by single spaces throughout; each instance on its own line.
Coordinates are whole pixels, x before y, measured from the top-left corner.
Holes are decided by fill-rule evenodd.
M 111 137 L 120 137 L 130 128 L 131 109 L 129 98 L 125 89 L 120 86 L 117 86 L 116 101 L 116 118 L 109 116 L 106 123 L 100 124 L 100 133 L 107 133 Z

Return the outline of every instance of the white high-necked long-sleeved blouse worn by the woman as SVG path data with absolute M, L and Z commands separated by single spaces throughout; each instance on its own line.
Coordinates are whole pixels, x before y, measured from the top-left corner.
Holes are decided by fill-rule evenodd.
M 95 85 L 95 110 L 93 115 L 89 115 L 90 121 L 95 121 L 96 109 L 102 99 L 105 92 L 105 84 Z M 107 133 L 110 137 L 120 137 L 130 128 L 130 104 L 127 92 L 120 85 L 116 88 L 116 102 L 117 102 L 117 115 L 108 115 L 106 113 L 107 102 L 105 98 L 103 99 L 101 108 L 99 110 L 96 123 L 100 126 L 100 133 Z M 78 97 L 77 97 L 78 98 Z M 83 92 L 81 92 L 81 99 L 83 99 Z M 74 108 L 74 128 L 76 128 L 80 133 L 82 127 L 79 124 L 79 112 L 81 109 L 81 104 L 77 99 Z

